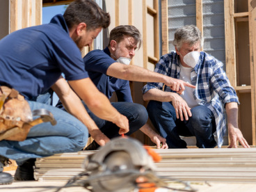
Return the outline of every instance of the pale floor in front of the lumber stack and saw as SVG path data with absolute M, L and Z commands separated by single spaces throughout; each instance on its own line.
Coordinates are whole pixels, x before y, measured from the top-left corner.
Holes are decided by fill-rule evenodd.
M 10 174 L 14 174 L 15 171 L 7 171 Z M 64 186 L 66 182 L 17 182 L 14 181 L 10 185 L 0 185 L 0 191 L 4 192 L 54 192 L 56 187 Z M 173 187 L 179 187 L 177 184 L 170 184 Z M 191 183 L 193 189 L 197 189 L 198 192 L 255 192 L 256 184 L 248 183 Z M 71 187 L 61 189 L 60 192 L 86 192 L 88 190 L 83 187 Z M 157 189 L 157 192 L 167 192 L 166 189 Z M 172 190 L 169 190 L 172 191 Z M 101 192 L 101 191 L 96 191 Z

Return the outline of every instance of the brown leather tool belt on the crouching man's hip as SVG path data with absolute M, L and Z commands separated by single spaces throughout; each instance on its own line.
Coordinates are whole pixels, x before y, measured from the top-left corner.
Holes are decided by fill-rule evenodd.
M 33 120 L 33 113 L 40 115 L 40 118 Z M 0 86 L 0 141 L 24 141 L 34 125 L 47 121 L 56 124 L 53 115 L 45 109 L 33 113 L 29 103 L 17 90 Z

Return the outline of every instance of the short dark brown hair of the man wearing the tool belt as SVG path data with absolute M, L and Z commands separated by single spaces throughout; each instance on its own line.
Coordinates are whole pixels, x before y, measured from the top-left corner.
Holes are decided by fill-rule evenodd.
M 107 28 L 110 24 L 109 13 L 105 13 L 93 0 L 73 1 L 65 10 L 63 17 L 69 29 L 81 22 L 86 23 L 87 30 Z

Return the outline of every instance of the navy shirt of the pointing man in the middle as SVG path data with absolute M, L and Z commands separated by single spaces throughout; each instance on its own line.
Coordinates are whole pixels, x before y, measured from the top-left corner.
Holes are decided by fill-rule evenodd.
M 108 47 L 104 50 L 90 51 L 83 57 L 83 62 L 86 65 L 86 71 L 90 79 L 106 97 L 110 98 L 115 92 L 118 102 L 133 102 L 129 81 L 106 75 L 106 70 L 108 70 L 109 66 L 116 63 L 111 58 Z

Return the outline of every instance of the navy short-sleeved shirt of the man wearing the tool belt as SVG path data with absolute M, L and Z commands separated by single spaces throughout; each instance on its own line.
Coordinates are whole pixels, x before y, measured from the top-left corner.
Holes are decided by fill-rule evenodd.
M 32 26 L 0 40 L 0 85 L 35 99 L 65 74 L 67 81 L 88 77 L 81 52 L 70 38 L 65 19 Z

